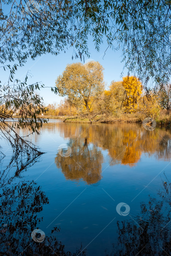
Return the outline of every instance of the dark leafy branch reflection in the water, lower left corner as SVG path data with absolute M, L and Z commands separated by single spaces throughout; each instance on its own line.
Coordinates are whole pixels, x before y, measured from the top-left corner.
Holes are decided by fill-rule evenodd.
M 51 230 L 49 236 L 46 234 L 43 242 L 38 243 L 31 238 L 32 231 L 43 221 L 38 214 L 49 201 L 36 182 L 21 182 L 18 176 L 36 161 L 39 158 L 28 161 L 26 157 L 24 162 L 22 157 L 25 164 L 21 166 L 12 158 L 11 163 L 17 165 L 17 172 L 13 172 L 11 164 L 0 170 L 0 255 L 78 255 L 82 247 L 75 253 L 65 252 L 65 246 L 57 239 L 58 227 Z M 85 255 L 85 252 L 80 255 Z

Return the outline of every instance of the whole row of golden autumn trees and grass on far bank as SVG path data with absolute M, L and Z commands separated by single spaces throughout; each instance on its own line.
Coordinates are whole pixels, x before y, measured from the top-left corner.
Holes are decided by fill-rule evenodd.
M 170 127 L 170 83 L 147 89 L 138 77 L 125 76 L 107 86 L 102 65 L 89 61 L 67 64 L 55 85 L 59 96 L 66 98 L 45 106 L 45 118 L 60 116 L 65 123 L 90 124 L 147 121 L 149 126 L 155 120 L 159 126 Z

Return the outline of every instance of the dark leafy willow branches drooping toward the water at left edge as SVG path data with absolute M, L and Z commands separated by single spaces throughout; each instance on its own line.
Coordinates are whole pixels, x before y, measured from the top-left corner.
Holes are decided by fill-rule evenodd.
M 4 68 L 10 72 L 8 82 L 0 84 L 0 137 L 6 139 L 13 149 L 11 161 L 18 161 L 18 170 L 24 169 L 41 153 L 26 137 L 19 135 L 19 129 L 27 129 L 30 133 L 39 134 L 39 129 L 47 120 L 38 115 L 46 112 L 43 99 L 35 90 L 44 85 L 35 83 L 27 85 L 28 74 L 23 82 L 14 79 L 17 65 Z M 53 89 L 56 92 L 56 89 Z M 1 158 L 3 154 L 1 154 Z

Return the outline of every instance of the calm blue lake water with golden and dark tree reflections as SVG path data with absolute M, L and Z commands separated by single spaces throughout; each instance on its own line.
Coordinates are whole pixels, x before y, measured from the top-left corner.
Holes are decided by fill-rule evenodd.
M 1 141 L 1 255 L 171 255 L 171 131 L 50 120 L 30 140 L 46 154 L 19 173 Z

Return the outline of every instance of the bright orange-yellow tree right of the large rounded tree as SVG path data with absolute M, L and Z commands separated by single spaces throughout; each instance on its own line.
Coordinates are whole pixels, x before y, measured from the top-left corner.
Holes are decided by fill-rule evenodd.
M 125 76 L 122 85 L 126 91 L 126 97 L 123 102 L 126 112 L 135 112 L 137 110 L 137 101 L 142 94 L 143 86 L 135 76 Z

